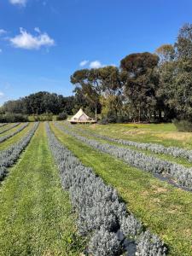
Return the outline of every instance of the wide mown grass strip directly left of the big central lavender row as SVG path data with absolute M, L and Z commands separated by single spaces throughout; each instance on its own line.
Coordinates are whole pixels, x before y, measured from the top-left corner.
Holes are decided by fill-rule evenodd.
M 82 251 L 44 124 L 3 183 L 0 205 L 0 255 L 67 256 Z

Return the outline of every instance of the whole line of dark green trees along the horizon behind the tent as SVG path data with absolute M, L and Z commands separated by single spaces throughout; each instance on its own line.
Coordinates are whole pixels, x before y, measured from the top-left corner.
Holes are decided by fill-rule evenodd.
M 77 70 L 71 83 L 74 96 L 41 91 L 5 102 L 1 112 L 73 114 L 84 108 L 109 122 L 191 121 L 192 24 L 179 30 L 175 44 L 126 55 L 119 67 Z

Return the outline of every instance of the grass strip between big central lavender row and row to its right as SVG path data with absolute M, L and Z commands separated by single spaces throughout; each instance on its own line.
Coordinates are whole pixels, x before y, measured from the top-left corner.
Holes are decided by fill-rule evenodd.
M 167 243 L 169 255 L 192 255 L 191 193 L 100 153 L 52 124 L 51 129 L 84 165 L 93 167 L 106 183 L 119 191 L 131 212 Z

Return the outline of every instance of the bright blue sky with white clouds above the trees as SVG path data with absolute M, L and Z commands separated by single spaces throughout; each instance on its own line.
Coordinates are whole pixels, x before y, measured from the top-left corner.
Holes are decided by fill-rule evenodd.
M 69 96 L 75 70 L 154 52 L 191 21 L 191 0 L 1 0 L 0 104 L 39 90 Z

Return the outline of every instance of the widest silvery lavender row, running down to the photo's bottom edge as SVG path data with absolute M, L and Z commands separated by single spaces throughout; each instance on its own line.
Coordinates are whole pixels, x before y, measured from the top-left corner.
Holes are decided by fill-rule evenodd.
M 166 247 L 160 239 L 143 229 L 143 225 L 119 201 L 117 192 L 96 177 L 65 148 L 46 125 L 49 148 L 61 172 L 62 185 L 69 190 L 78 227 L 90 242 L 87 252 L 96 256 L 162 256 Z

